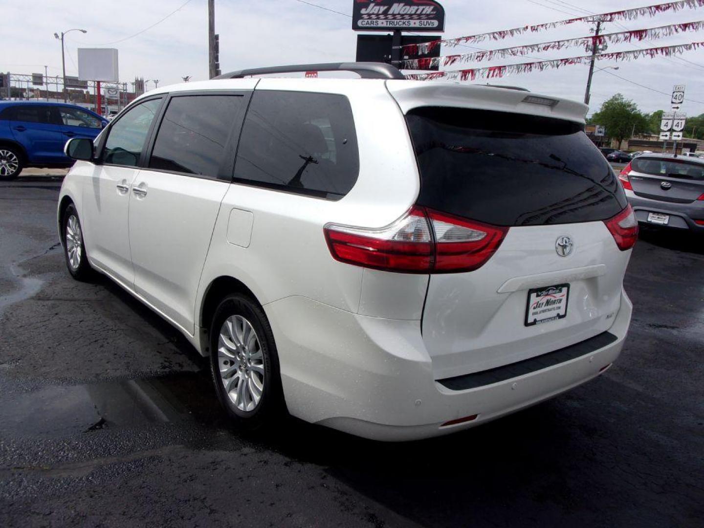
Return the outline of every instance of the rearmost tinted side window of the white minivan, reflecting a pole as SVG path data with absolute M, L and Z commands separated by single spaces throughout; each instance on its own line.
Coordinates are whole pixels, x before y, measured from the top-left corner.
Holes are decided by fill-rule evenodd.
M 345 96 L 254 92 L 244 121 L 236 182 L 339 198 L 357 181 L 359 153 Z

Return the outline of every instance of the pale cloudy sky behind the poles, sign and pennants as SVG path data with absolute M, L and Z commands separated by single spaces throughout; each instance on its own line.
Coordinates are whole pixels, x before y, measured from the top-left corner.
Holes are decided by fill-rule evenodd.
M 446 11 L 443 36 L 452 38 L 650 5 L 657 0 L 445 0 L 441 3 Z M 0 0 L 0 4 L 2 71 L 43 72 L 44 65 L 48 65 L 49 75 L 60 74 L 61 45 L 54 39 L 54 32 L 82 27 L 87 34 L 72 32 L 66 37 L 67 75 L 77 75 L 77 48 L 114 47 L 119 50 L 121 80 L 130 81 L 139 76 L 158 79 L 159 84 L 172 84 L 180 82 L 183 75 L 191 75 L 193 80 L 207 78 L 207 0 L 32 0 L 30 3 Z M 220 34 L 221 69 L 225 72 L 258 65 L 354 60 L 356 32 L 351 30 L 349 17 L 352 6 L 353 0 L 310 0 L 308 3 L 301 0 L 215 0 L 215 31 Z M 165 20 L 160 22 L 163 18 Z M 695 20 L 704 20 L 704 8 L 621 21 L 620 25 L 608 23 L 605 32 Z M 576 23 L 499 42 L 482 42 L 450 51 L 443 49 L 441 54 L 588 34 L 589 24 Z M 637 46 L 614 44 L 608 51 L 695 41 L 704 41 L 704 31 L 681 33 L 652 43 L 640 42 Z M 584 54 L 583 49 L 568 48 L 531 54 L 531 57 L 562 58 Z M 477 66 L 524 62 L 532 58 L 498 59 Z M 607 69 L 594 76 L 593 110 L 616 92 L 633 99 L 642 111 L 666 108 L 670 103 L 668 94 L 672 85 L 686 84 L 688 101 L 682 110 L 690 115 L 704 113 L 704 48 L 687 52 L 681 58 L 598 63 L 600 68 L 608 65 L 617 65 L 619 70 Z M 582 100 L 587 71 L 587 65 L 572 65 L 560 70 L 511 75 L 500 82 Z

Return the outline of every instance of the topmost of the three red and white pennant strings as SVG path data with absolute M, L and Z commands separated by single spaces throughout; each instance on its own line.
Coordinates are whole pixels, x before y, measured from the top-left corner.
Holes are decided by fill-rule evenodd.
M 655 4 L 653 6 L 636 7 L 633 9 L 623 9 L 621 11 L 612 11 L 610 13 L 601 13 L 598 15 L 581 16 L 578 18 L 569 18 L 567 20 L 557 20 L 556 22 L 548 22 L 545 24 L 524 25 L 514 27 L 510 30 L 492 31 L 489 33 L 479 33 L 469 35 L 467 37 L 458 37 L 456 39 L 442 39 L 425 42 L 423 44 L 407 44 L 406 46 L 398 46 L 403 48 L 403 53 L 409 55 L 425 55 L 430 53 L 436 46 L 444 44 L 445 46 L 458 46 L 459 44 L 467 44 L 468 42 L 482 42 L 484 40 L 501 40 L 507 37 L 513 37 L 517 34 L 526 32 L 539 32 L 542 30 L 553 29 L 563 25 L 574 24 L 576 22 L 612 22 L 614 20 L 634 20 L 641 16 L 655 16 L 668 11 L 681 11 L 682 9 L 696 9 L 704 6 L 704 0 L 680 0 L 677 2 L 666 2 L 665 4 Z

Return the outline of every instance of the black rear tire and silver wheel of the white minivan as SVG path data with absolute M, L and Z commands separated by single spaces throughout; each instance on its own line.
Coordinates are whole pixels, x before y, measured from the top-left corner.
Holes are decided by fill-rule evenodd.
M 274 335 L 262 308 L 249 296 L 227 296 L 215 310 L 210 367 L 218 400 L 237 429 L 268 428 L 284 415 Z

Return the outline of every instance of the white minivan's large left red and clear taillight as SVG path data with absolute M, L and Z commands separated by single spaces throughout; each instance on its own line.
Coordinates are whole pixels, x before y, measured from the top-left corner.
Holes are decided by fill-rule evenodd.
M 411 208 L 381 229 L 328 224 L 325 239 L 340 262 L 404 273 L 448 273 L 481 268 L 501 245 L 508 227 Z

